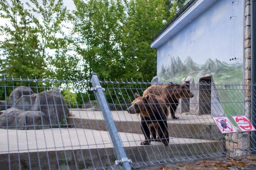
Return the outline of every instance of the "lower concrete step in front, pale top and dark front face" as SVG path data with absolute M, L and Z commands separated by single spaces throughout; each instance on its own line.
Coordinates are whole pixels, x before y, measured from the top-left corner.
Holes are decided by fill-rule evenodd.
M 142 146 L 143 135 L 119 132 L 134 167 L 157 162 L 177 162 L 221 156 L 221 141 L 170 138 Z M 116 156 L 107 131 L 52 128 L 44 130 L 0 129 L 0 167 L 3 169 L 117 169 Z M 9 163 L 10 162 L 10 167 Z

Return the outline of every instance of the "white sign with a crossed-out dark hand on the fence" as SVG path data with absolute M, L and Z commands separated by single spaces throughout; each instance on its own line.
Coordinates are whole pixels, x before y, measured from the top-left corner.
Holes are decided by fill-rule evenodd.
M 227 117 L 212 117 L 212 119 L 217 124 L 222 134 L 237 132 Z

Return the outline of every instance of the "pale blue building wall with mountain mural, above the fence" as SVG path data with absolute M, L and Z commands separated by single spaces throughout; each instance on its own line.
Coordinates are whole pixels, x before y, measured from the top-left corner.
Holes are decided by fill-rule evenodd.
M 160 81 L 212 74 L 215 83 L 243 83 L 243 23 L 244 0 L 218 0 L 157 49 Z

